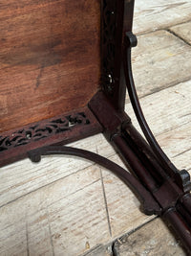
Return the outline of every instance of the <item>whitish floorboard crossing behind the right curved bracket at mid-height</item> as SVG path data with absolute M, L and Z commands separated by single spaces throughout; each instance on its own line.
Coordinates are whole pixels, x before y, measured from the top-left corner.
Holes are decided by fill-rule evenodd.
M 140 99 L 146 120 L 156 136 L 191 121 L 190 97 L 191 81 L 185 81 Z M 125 110 L 140 130 L 132 106 L 125 105 Z

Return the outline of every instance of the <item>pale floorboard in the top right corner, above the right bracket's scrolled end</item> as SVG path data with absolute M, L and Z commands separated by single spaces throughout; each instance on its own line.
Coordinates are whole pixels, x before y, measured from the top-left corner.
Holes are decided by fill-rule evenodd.
M 145 34 L 191 19 L 190 0 L 136 0 L 134 32 Z

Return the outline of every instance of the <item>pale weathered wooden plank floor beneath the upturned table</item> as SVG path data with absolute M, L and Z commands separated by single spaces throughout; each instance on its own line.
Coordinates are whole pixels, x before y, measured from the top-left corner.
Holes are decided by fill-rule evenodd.
M 177 167 L 191 170 L 190 0 L 136 0 L 134 31 L 133 69 L 145 116 Z M 138 128 L 128 97 L 126 111 Z M 73 146 L 123 165 L 101 134 Z M 91 162 L 20 161 L 0 172 L 0 255 L 112 255 L 120 237 L 118 255 L 185 255 L 162 222 L 138 207 L 115 175 Z M 149 244 L 151 228 L 158 232 Z

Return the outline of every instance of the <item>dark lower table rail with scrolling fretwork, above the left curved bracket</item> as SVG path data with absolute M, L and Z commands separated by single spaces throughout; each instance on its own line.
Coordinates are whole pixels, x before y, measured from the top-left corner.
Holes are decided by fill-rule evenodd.
M 48 120 L 0 134 L 0 167 L 28 157 L 28 151 L 49 145 L 65 145 L 102 132 L 86 106 Z

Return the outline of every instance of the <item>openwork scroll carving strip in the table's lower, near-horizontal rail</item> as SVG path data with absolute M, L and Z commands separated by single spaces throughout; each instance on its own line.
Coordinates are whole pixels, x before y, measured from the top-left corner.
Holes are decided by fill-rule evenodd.
M 81 125 L 90 125 L 90 120 L 84 112 L 53 119 L 47 123 L 38 123 L 29 128 L 22 128 L 7 136 L 0 136 L 0 151 L 27 145 L 32 141 L 39 141 Z

